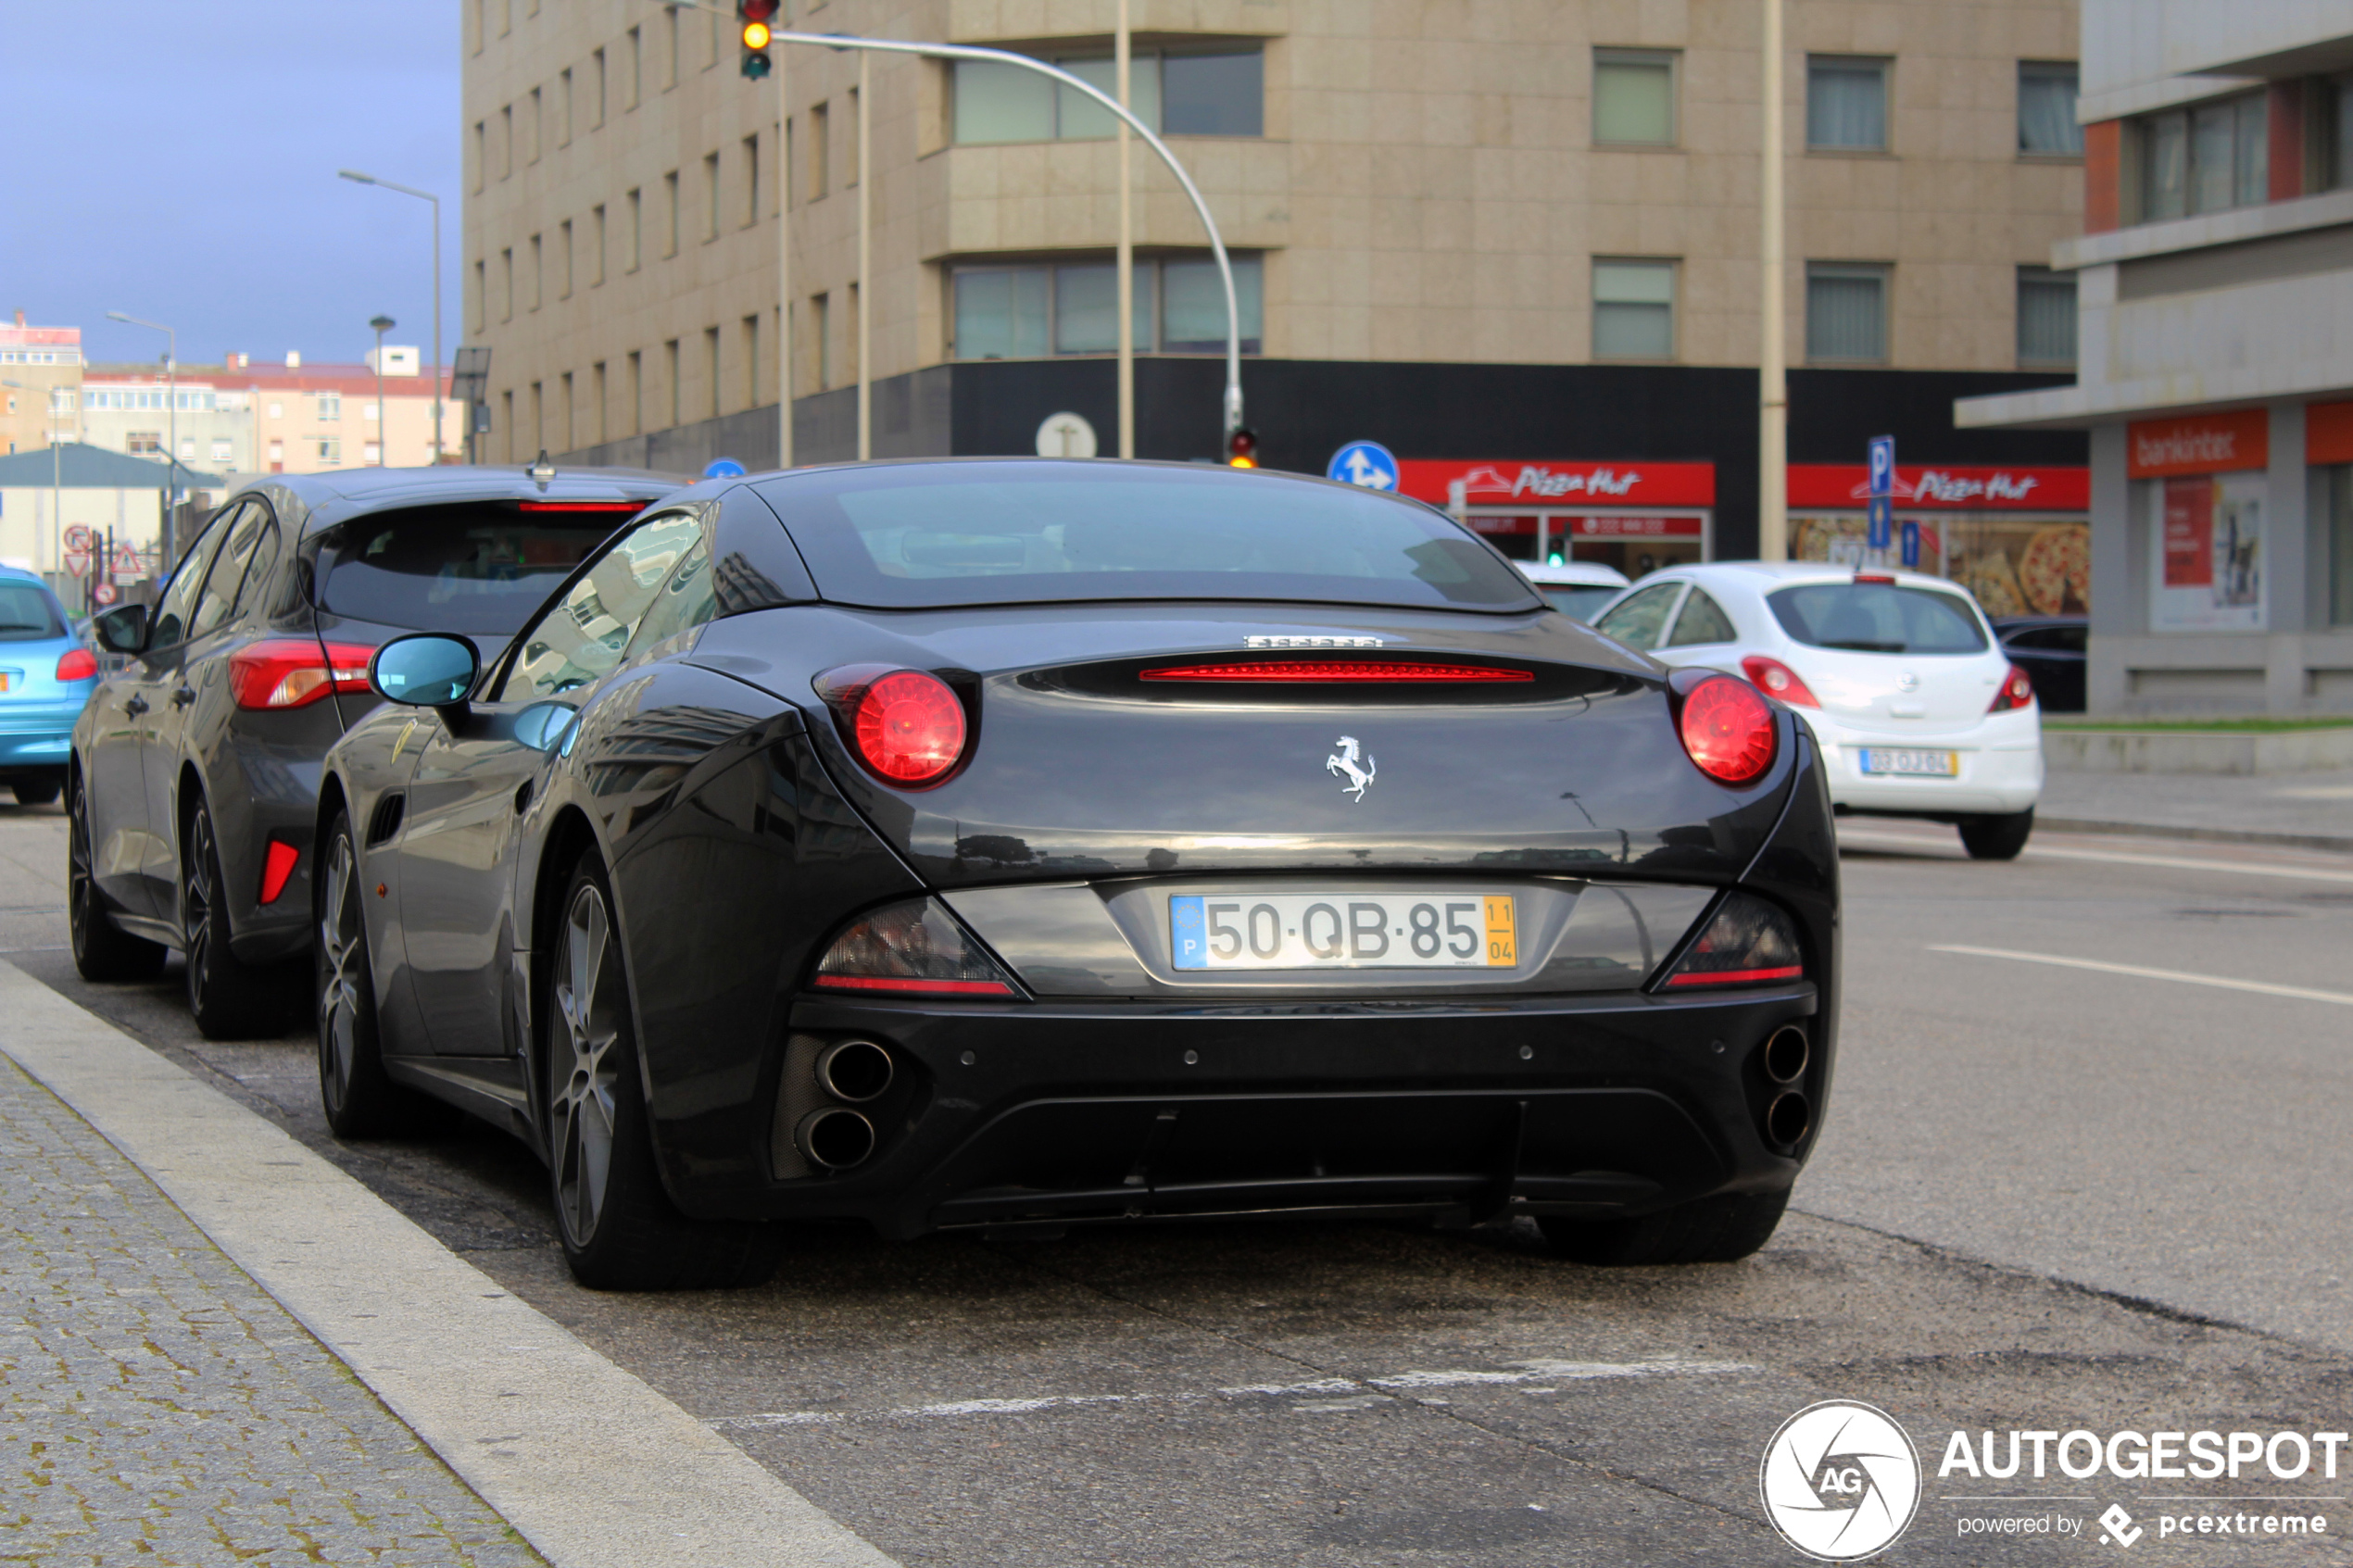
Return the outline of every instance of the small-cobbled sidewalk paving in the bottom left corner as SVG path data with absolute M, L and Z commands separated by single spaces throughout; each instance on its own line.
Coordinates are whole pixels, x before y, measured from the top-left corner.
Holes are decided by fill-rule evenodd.
M 541 1563 L 0 1056 L 0 1561 Z

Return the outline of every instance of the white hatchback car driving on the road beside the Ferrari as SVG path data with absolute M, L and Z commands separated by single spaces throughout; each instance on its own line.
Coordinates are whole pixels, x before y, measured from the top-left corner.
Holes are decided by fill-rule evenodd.
M 2033 682 L 1946 578 L 1821 562 L 1671 567 L 1593 628 L 1668 665 L 1741 672 L 1788 703 L 1821 743 L 1842 813 L 1953 823 L 1979 860 L 2009 860 L 2033 832 Z

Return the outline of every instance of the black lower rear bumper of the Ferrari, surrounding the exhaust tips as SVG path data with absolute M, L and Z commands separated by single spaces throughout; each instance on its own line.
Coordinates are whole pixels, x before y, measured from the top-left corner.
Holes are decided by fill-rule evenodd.
M 1786 1187 L 1828 1093 L 1828 1041 L 1765 1070 L 1812 985 L 1487 1004 L 899 1004 L 805 997 L 769 1063 L 760 1182 L 675 1197 L 739 1218 L 854 1218 L 889 1237 L 1240 1213 L 1617 1215 Z M 873 1154 L 824 1171 L 795 1126 L 824 1044 L 871 1039 L 892 1088 L 852 1105 Z M 1802 1095 L 1805 1131 L 1767 1133 Z M 1788 1107 L 1784 1105 L 1784 1112 Z M 1786 1121 L 1777 1124 L 1786 1131 Z

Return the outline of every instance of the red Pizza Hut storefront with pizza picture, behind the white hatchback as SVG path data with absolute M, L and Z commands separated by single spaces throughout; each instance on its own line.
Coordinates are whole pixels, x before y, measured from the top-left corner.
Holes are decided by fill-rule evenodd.
M 1791 559 L 1859 564 L 1868 508 L 1861 463 L 1791 463 Z M 2092 607 L 2089 468 L 1899 463 L 1894 522 L 1892 564 L 1953 578 L 1988 616 L 2078 616 Z M 1897 555 L 1906 531 L 1918 562 Z

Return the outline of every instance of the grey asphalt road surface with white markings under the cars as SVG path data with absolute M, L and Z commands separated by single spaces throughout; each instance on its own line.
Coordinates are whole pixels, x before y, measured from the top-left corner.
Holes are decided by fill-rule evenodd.
M 216 1074 L 901 1563 L 1795 1563 L 1758 1458 L 1817 1399 L 1882 1406 L 1929 1465 L 1885 1561 L 2108 1556 L 2111 1502 L 2141 1526 L 2209 1502 L 2334 1516 L 2322 1540 L 2137 1537 L 2162 1561 L 2353 1561 L 2344 1474 L 2162 1488 L 2195 1505 L 1937 1476 L 1955 1429 L 2353 1425 L 2353 858 L 2047 835 L 1977 865 L 1892 823 L 1847 842 L 1824 1145 L 1765 1253 L 1694 1269 L 1569 1267 L 1525 1227 L 1268 1225 L 824 1237 L 760 1291 L 595 1295 L 501 1135 L 339 1147 L 306 1034 L 200 1041 L 176 969 L 82 985 L 54 809 L 0 809 L 0 952 Z M 1981 1516 L 2080 1535 L 1958 1533 Z

